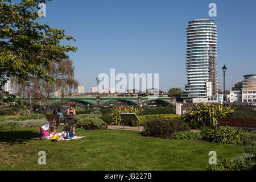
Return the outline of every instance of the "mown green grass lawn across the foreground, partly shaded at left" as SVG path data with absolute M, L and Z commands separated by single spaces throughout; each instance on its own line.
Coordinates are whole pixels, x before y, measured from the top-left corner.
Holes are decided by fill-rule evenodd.
M 209 151 L 232 159 L 245 146 L 140 137 L 138 131 L 95 130 L 86 138 L 34 140 L 39 129 L 0 132 L 0 170 L 205 170 Z M 46 165 L 38 152 L 46 152 Z

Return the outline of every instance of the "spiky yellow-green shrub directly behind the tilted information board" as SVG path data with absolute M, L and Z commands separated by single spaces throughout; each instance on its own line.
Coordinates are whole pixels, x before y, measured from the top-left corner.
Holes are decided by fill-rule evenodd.
M 143 109 L 141 107 L 134 107 L 134 106 L 125 106 L 121 108 L 114 108 L 112 109 L 112 113 L 110 114 L 110 117 L 112 118 L 112 123 L 110 125 L 121 125 L 123 123 L 123 119 L 121 118 L 121 115 L 119 113 L 135 113 L 138 114 L 142 112 Z M 130 121 L 131 123 L 131 121 Z

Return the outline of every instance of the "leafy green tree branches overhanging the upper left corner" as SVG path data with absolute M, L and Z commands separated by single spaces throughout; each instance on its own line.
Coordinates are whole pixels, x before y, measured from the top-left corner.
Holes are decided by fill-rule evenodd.
M 16 101 L 16 97 L 3 92 L 3 85 L 10 77 L 26 82 L 34 77 L 53 83 L 49 75 L 51 61 L 69 59 L 68 52 L 77 47 L 63 46 L 61 40 L 76 40 L 63 29 L 39 24 L 38 5 L 51 0 L 22 0 L 0 3 L 0 100 Z

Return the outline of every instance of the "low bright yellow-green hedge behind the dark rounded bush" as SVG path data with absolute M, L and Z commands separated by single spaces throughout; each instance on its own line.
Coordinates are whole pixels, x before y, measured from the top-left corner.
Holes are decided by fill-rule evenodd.
M 159 119 L 159 118 L 164 118 L 164 119 L 176 119 L 179 120 L 179 115 L 176 114 L 151 114 L 151 115 L 138 115 L 139 122 L 138 121 L 131 121 L 132 126 L 138 126 L 144 125 L 144 122 L 152 119 Z

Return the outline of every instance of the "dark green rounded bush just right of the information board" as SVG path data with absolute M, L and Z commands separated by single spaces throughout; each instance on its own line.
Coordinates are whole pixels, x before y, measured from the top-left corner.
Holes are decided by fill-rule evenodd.
M 152 119 L 144 123 L 142 135 L 146 137 L 171 138 L 177 132 L 189 131 L 187 123 L 179 120 Z

